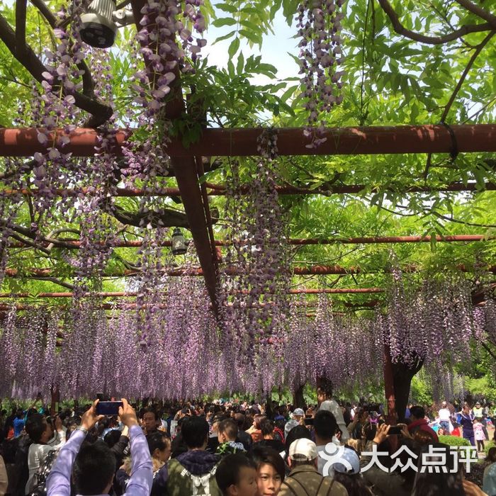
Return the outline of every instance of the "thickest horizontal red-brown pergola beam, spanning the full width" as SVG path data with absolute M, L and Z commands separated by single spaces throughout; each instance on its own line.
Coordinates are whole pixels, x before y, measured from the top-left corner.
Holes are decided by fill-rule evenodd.
M 284 155 L 359 155 L 400 153 L 450 153 L 456 141 L 458 152 L 496 152 L 496 124 L 402 125 L 356 128 L 327 128 L 327 141 L 317 148 L 308 148 L 310 138 L 302 128 L 280 128 L 277 148 Z M 198 142 L 184 147 L 177 137 L 167 143 L 171 157 L 246 157 L 257 155 L 257 138 L 263 128 L 203 130 Z M 57 133 L 62 133 L 58 130 Z M 35 128 L 0 129 L 0 156 L 31 157 L 44 152 L 38 142 Z M 93 157 L 98 133 L 94 129 L 79 128 L 69 134 L 70 142 L 64 152 L 74 157 Z M 118 145 L 115 154 L 122 155 L 120 145 L 125 141 L 125 131 L 115 135 Z

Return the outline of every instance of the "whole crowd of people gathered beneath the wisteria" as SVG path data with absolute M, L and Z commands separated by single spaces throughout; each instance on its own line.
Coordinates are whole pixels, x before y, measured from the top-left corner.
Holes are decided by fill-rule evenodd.
M 52 417 L 14 407 L 1 419 L 0 496 L 496 496 L 496 447 L 458 463 L 439 442 L 458 424 L 472 444 L 478 423 L 487 439 L 492 411 L 480 403 L 444 402 L 435 418 L 409 405 L 393 427 L 381 405 L 317 393 L 305 408 L 123 399 L 118 415 L 98 415 L 96 400 Z

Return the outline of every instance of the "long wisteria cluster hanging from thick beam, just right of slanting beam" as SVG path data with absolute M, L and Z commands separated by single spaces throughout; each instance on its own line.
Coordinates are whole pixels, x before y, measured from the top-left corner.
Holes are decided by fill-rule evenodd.
M 226 205 L 231 244 L 221 267 L 222 329 L 232 348 L 241 351 L 237 366 L 254 368 L 254 377 L 270 354 L 281 356 L 288 315 L 291 273 L 285 215 L 276 191 L 276 142 L 270 130 L 259 138 L 261 159 L 247 194 L 241 191 L 239 164 L 232 164 Z

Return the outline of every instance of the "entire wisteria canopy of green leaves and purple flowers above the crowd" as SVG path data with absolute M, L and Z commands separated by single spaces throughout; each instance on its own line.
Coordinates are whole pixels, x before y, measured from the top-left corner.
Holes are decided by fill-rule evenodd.
M 367 388 L 494 353 L 489 11 L 110 4 L 0 13 L 0 395 Z

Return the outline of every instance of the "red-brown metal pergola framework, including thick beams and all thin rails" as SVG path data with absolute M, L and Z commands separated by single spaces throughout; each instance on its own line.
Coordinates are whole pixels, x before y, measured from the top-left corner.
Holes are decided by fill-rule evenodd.
M 398 18 L 393 18 L 388 2 L 381 2 L 386 13 L 390 16 L 395 26 L 395 30 L 404 29 L 400 25 Z M 470 2 L 469 2 L 470 4 Z M 133 13 L 135 23 L 140 29 L 142 18 L 141 9 L 144 5 L 142 0 L 133 0 Z M 488 20 L 488 25 L 492 26 L 494 19 Z M 482 26 L 482 25 L 481 25 Z M 486 26 L 487 28 L 487 26 Z M 483 30 L 482 28 L 480 30 Z M 16 33 L 21 36 L 22 33 Z M 22 37 L 21 37 L 22 38 Z M 9 47 L 10 48 L 10 47 Z M 17 47 L 14 48 L 17 50 Z M 12 50 L 11 50 L 12 51 Z M 28 67 L 29 69 L 29 67 Z M 33 67 L 31 67 L 33 69 Z M 34 67 L 33 70 L 36 70 Z M 31 72 L 33 72 L 31 70 Z M 169 120 L 179 118 L 181 113 L 186 112 L 184 101 L 181 95 L 181 84 L 179 70 L 176 68 L 176 82 L 172 96 L 167 103 L 165 117 Z M 39 79 L 39 74 L 38 74 Z M 81 97 L 82 98 L 82 97 Z M 79 98 L 79 99 L 81 99 Z M 80 102 L 81 103 L 81 102 Z M 81 108 L 91 111 L 91 105 L 88 101 L 82 101 Z M 101 110 L 101 109 L 100 109 Z M 207 185 L 199 183 L 198 179 L 203 174 L 203 165 L 201 157 L 230 157 L 230 156 L 252 156 L 257 155 L 257 139 L 263 130 L 261 129 L 204 129 L 201 139 L 193 143 L 190 147 L 184 147 L 181 136 L 171 140 L 167 145 L 167 152 L 170 157 L 171 166 L 174 169 L 178 188 L 164 188 L 157 191 L 157 196 L 181 196 L 184 203 L 184 210 L 188 219 L 188 228 L 191 230 L 193 242 L 196 247 L 196 253 L 201 265 L 201 269 L 194 271 L 181 271 L 178 269 L 176 275 L 198 275 L 205 278 L 205 286 L 208 290 L 210 300 L 215 310 L 217 308 L 216 292 L 219 283 L 219 254 L 216 247 L 224 246 L 222 240 L 214 239 L 212 227 L 212 215 L 210 213 L 207 197 L 220 196 L 225 194 L 225 188 L 218 185 Z M 72 152 L 74 156 L 90 157 L 94 154 L 96 145 L 97 131 L 94 129 L 82 128 L 77 129 L 70 135 L 70 143 L 67 146 L 67 152 Z M 398 126 L 388 128 L 333 128 L 327 129 L 324 133 L 327 141 L 315 149 L 309 149 L 308 138 L 303 134 L 301 129 L 281 129 L 278 130 L 278 154 L 283 155 L 329 155 L 329 154 L 407 154 L 407 153 L 453 153 L 457 152 L 496 152 L 496 125 L 424 125 L 424 126 Z M 118 144 L 125 139 L 124 133 L 117 133 Z M 30 157 L 35 152 L 43 152 L 44 147 L 37 140 L 37 130 L 35 129 L 0 129 L 0 156 L 12 157 Z M 120 149 L 114 150 L 119 154 Z M 355 193 L 362 191 L 366 186 L 346 185 L 333 186 L 323 191 L 309 190 L 305 188 L 291 188 L 286 186 L 279 187 L 281 194 L 332 194 L 332 193 Z M 495 184 L 487 184 L 487 189 L 494 190 Z M 444 188 L 430 189 L 429 186 L 412 186 L 407 188 L 407 192 L 415 191 L 474 191 L 475 184 L 448 184 Z M 11 193 L 18 193 L 11 191 Z M 30 191 L 21 191 L 29 195 Z M 60 191 L 60 194 L 70 194 L 70 191 Z M 126 190 L 120 188 L 116 191 L 117 196 L 140 196 L 142 191 Z M 6 192 L 9 194 L 9 192 Z M 483 235 L 460 235 L 451 237 L 436 237 L 439 242 L 481 242 L 485 239 Z M 48 240 L 54 245 L 77 249 L 77 240 Z M 347 239 L 290 239 L 290 244 L 325 244 L 325 243 L 343 243 L 343 244 L 371 244 L 371 243 L 396 243 L 396 242 L 431 242 L 430 237 L 361 237 Z M 163 243 L 168 246 L 168 242 Z M 12 247 L 24 247 L 23 242 L 11 244 Z M 140 242 L 123 241 L 118 242 L 118 247 L 139 247 Z M 407 268 L 408 269 L 408 268 Z M 415 271 L 415 267 L 411 268 Z M 465 270 L 464 267 L 460 268 Z M 495 266 L 487 268 L 489 271 L 496 273 Z M 38 276 L 50 276 L 50 269 L 33 269 L 33 274 Z M 295 268 L 294 274 L 358 274 L 359 268 L 342 268 L 339 266 L 324 267 L 316 266 L 314 268 Z M 131 276 L 136 271 L 125 271 L 122 276 Z M 6 274 L 17 276 L 18 272 L 7 269 Z M 175 275 L 175 274 L 167 274 Z M 312 290 L 308 290 L 311 292 Z M 354 291 L 336 289 L 336 290 L 315 290 L 338 293 L 380 293 L 381 288 L 355 288 Z M 295 293 L 305 293 L 306 290 L 295 290 Z M 65 298 L 70 293 L 46 293 L 44 297 Z M 102 293 L 105 297 L 107 293 Z M 108 293 L 109 296 L 110 293 Z M 112 296 L 126 297 L 130 293 L 113 293 Z M 40 295 L 41 296 L 41 295 Z M 0 298 L 24 298 L 26 294 L 1 295 Z M 18 305 L 22 308 L 22 305 Z M 110 308 L 110 307 L 109 307 Z M 0 305 L 0 310 L 3 310 Z M 391 371 L 390 357 L 385 352 L 385 389 L 386 397 L 389 401 L 390 415 L 394 416 L 394 390 L 393 377 Z

